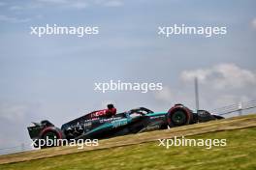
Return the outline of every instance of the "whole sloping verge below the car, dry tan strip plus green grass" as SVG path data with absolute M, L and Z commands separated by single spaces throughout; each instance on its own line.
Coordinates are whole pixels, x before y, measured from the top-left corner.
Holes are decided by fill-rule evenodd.
M 2 159 L 5 164 L 0 165 L 0 169 L 256 169 L 255 123 L 253 115 L 222 122 L 121 136 L 102 141 L 101 145 L 105 147 L 79 153 L 69 153 L 77 149 L 64 147 L 2 156 L 0 161 Z M 195 133 L 196 131 L 201 133 Z M 157 138 L 172 138 L 181 134 L 187 136 L 186 138 L 195 139 L 227 139 L 227 146 L 213 147 L 209 150 L 206 147 L 166 149 L 159 147 L 159 143 L 155 141 Z M 62 153 L 63 150 L 69 152 L 65 154 Z M 62 155 L 54 155 L 56 152 Z M 40 154 L 42 157 L 33 158 Z M 50 154 L 52 156 L 48 156 Z M 22 156 L 25 159 L 20 158 Z M 26 159 L 27 157 L 30 159 Z M 3 161 L 8 158 L 16 161 Z

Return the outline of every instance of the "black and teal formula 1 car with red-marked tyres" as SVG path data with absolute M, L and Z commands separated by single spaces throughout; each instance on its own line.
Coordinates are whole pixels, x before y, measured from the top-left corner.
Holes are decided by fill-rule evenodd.
M 33 127 L 28 127 L 28 132 L 32 140 L 47 138 L 102 139 L 223 119 L 221 116 L 211 115 L 206 110 L 193 113 L 192 110 L 182 104 L 176 104 L 168 112 L 153 112 L 147 108 L 139 107 L 112 117 L 92 117 L 95 112 L 68 122 L 61 128 L 54 127 L 47 120 L 33 123 Z

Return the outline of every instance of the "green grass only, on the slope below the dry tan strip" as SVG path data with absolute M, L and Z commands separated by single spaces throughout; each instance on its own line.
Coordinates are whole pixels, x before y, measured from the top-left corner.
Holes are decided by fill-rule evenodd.
M 158 142 L 86 151 L 0 165 L 1 170 L 256 169 L 256 128 L 210 132 L 187 138 L 227 139 L 226 147 L 159 147 Z

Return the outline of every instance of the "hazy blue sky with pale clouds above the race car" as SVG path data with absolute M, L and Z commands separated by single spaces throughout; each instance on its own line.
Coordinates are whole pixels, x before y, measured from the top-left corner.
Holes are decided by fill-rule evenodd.
M 26 127 L 57 127 L 114 103 L 167 111 L 256 99 L 254 0 L 0 0 L 0 148 L 29 143 Z M 160 37 L 159 26 L 226 26 L 225 36 Z M 100 34 L 30 35 L 31 26 L 98 26 Z M 95 82 L 162 82 L 158 92 L 94 91 Z

